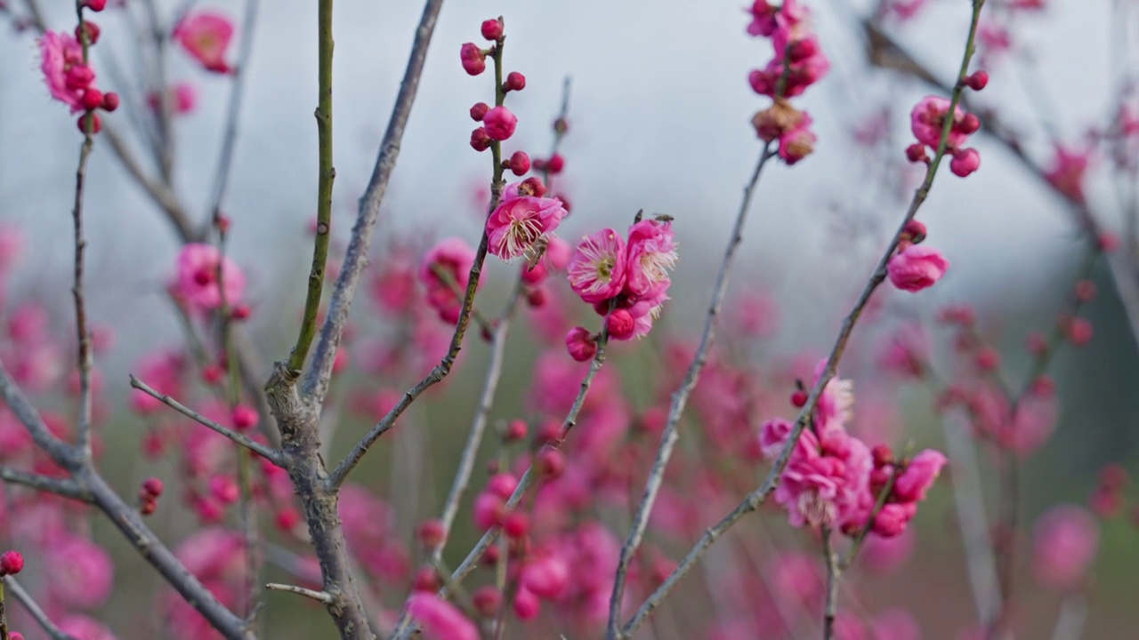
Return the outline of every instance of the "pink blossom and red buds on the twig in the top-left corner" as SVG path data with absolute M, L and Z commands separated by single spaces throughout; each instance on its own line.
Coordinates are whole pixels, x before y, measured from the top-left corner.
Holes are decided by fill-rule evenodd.
M 85 0 L 83 8 L 101 11 L 106 0 Z M 88 48 L 99 41 L 99 25 L 81 19 L 75 33 L 44 31 L 40 38 L 40 68 L 51 97 L 71 107 L 79 117 L 79 130 L 98 133 L 103 122 L 96 113 L 118 108 L 118 93 L 104 93 L 95 85 L 95 69 L 88 63 Z

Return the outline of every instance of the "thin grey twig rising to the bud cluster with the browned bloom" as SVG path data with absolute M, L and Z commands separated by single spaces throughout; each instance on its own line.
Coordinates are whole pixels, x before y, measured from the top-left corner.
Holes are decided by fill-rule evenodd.
M 617 638 L 620 634 L 621 602 L 624 600 L 629 565 L 632 563 L 633 555 L 637 552 L 641 539 L 645 536 L 645 528 L 648 526 L 653 504 L 664 482 L 664 471 L 669 466 L 669 459 L 672 457 L 672 450 L 677 441 L 680 440 L 680 417 L 688 404 L 688 397 L 691 395 L 693 389 L 696 388 L 696 383 L 699 380 L 700 372 L 707 362 L 712 343 L 715 340 L 716 318 L 720 314 L 720 307 L 728 290 L 728 279 L 731 274 L 736 251 L 744 239 L 744 224 L 747 221 L 747 213 L 752 208 L 752 196 L 755 194 L 755 187 L 760 181 L 763 166 L 767 165 L 772 156 L 775 156 L 775 153 L 771 150 L 771 143 L 768 142 L 760 153 L 755 169 L 752 171 L 751 180 L 748 180 L 747 186 L 744 188 L 744 198 L 739 204 L 736 223 L 732 227 L 731 236 L 728 238 L 728 248 L 724 249 L 723 260 L 720 262 L 720 272 L 716 274 L 715 285 L 712 289 L 712 301 L 708 303 L 707 318 L 704 321 L 704 333 L 700 336 L 700 344 L 696 348 L 696 354 L 693 356 L 691 363 L 688 366 L 685 380 L 677 388 L 675 393 L 672 394 L 672 404 L 669 407 L 669 417 L 665 422 L 664 433 L 661 435 L 661 445 L 656 451 L 656 460 L 654 460 L 648 479 L 645 482 L 645 493 L 637 506 L 637 514 L 633 516 L 632 525 L 629 527 L 629 538 L 625 539 L 625 543 L 621 548 L 621 559 L 617 563 L 616 579 L 613 582 L 613 592 L 609 597 L 609 624 L 606 630 L 606 637 L 609 639 Z

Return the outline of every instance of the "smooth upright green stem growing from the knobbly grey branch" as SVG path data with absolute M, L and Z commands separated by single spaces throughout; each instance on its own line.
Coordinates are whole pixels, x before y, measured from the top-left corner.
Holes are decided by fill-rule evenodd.
M 312 251 L 312 269 L 309 271 L 309 292 L 304 298 L 304 318 L 296 345 L 288 356 L 288 368 L 296 374 L 304 367 L 309 347 L 317 336 L 317 312 L 325 288 L 325 264 L 328 262 L 328 240 L 333 222 L 333 0 L 320 0 L 318 5 L 319 71 L 317 73 L 317 137 L 320 153 L 319 186 L 317 192 L 317 240 Z

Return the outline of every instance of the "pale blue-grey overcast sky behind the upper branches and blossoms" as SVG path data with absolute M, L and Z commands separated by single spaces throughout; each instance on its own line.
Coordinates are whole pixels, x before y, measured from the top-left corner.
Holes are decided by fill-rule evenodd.
M 836 289 L 849 292 L 865 279 L 885 230 L 904 213 L 896 199 L 867 187 L 876 161 L 851 142 L 851 128 L 888 99 L 895 106 L 892 126 L 901 155 L 909 143 L 909 109 L 927 92 L 880 73 L 867 76 L 861 41 L 851 31 L 850 5 L 806 3 L 816 10 L 823 48 L 834 63 L 829 76 L 798 101 L 817 122 L 818 151 L 794 167 L 772 167 L 764 175 L 737 280 L 771 289 L 787 313 L 811 311 L 801 313 L 802 322 L 785 323 L 796 340 L 833 331 L 850 300 L 849 293 L 836 297 Z M 981 98 L 1026 116 L 1034 110 L 1025 87 L 1036 82 L 1038 90 L 1051 96 L 1044 110 L 1055 113 L 1060 131 L 1075 137 L 1101 122 L 1107 110 L 1109 3 L 1049 3 L 1055 7 L 1025 20 L 1023 32 L 1041 73 L 1029 76 L 1023 66 L 994 65 Z M 526 90 L 510 97 L 519 126 L 508 150 L 524 148 L 538 156 L 548 148 L 563 77 L 573 76 L 571 133 L 564 146 L 573 215 L 563 227 L 565 235 L 575 238 L 599 225 L 625 224 L 638 208 L 669 213 L 683 244 L 678 280 L 710 277 L 759 151 L 748 121 L 765 106 L 746 76 L 771 57 L 770 44 L 745 35 L 741 5 L 445 2 L 385 219 L 403 229 L 427 227 L 477 239 L 472 198 L 487 179 L 489 157 L 467 146 L 473 126 L 467 109 L 489 101 L 491 88 L 489 76 L 462 72 L 458 50 L 462 42 L 480 40 L 483 18 L 502 15 L 506 68 L 527 77 Z M 961 56 L 968 2 L 931 5 L 899 36 L 919 59 L 950 77 Z M 237 17 L 243 5 L 215 0 L 199 6 Z M 311 1 L 262 1 L 254 34 L 256 52 L 224 208 L 236 223 L 231 253 L 263 294 L 280 278 L 303 277 L 308 262 L 304 229 L 316 203 L 314 11 Z M 336 2 L 334 227 L 341 232 L 350 227 L 371 172 L 420 11 L 419 2 L 403 0 Z M 50 18 L 57 28 L 74 20 L 68 11 Z M 114 13 L 100 23 L 106 42 L 120 39 L 115 49 L 126 59 L 125 23 Z M 15 221 L 32 240 L 21 274 L 24 286 L 50 284 L 56 302 L 66 304 L 80 139 L 66 108 L 47 96 L 33 39 L 0 31 L 0 220 Z M 179 123 L 177 173 L 180 195 L 203 216 L 230 83 L 196 71 L 179 54 L 174 57 L 172 75 L 202 89 L 202 108 Z M 108 82 L 104 76 L 100 85 L 114 89 Z M 113 117 L 121 120 L 121 114 Z M 1033 125 L 1025 118 L 1024 126 Z M 156 296 L 170 273 L 174 237 L 100 141 L 96 147 L 87 219 L 92 279 L 104 287 L 89 295 L 93 313 L 132 336 L 151 330 L 172 335 L 169 313 L 149 310 L 161 304 Z M 950 300 L 998 295 L 1000 304 L 1023 306 L 1049 295 L 1046 289 L 1055 278 L 1066 281 L 1079 257 L 1071 221 L 1055 198 L 1041 192 L 1000 149 L 983 141 L 977 147 L 981 171 L 967 180 L 944 171 L 920 215 L 929 225 L 929 241 L 953 263 L 944 286 L 923 294 L 920 306 L 926 310 Z M 1113 205 L 1108 194 L 1095 194 L 1105 213 Z M 845 228 L 835 224 L 836 203 L 877 221 L 877 232 L 857 241 L 836 237 L 836 229 Z M 1010 282 L 1015 287 L 1001 288 Z M 705 289 L 694 290 L 703 295 Z

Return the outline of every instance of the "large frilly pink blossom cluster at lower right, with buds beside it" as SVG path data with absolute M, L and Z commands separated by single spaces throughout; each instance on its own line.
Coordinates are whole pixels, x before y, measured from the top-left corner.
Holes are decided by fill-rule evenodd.
M 825 366 L 820 363 L 818 372 Z M 836 377 L 827 384 L 812 428 L 802 433 L 792 450 L 776 487 L 776 502 L 787 509 L 792 526 L 835 528 L 850 536 L 869 530 L 893 538 L 906 531 L 917 514 L 918 502 L 937 478 L 945 457 L 926 450 L 911 460 L 896 461 L 886 445 L 871 451 L 846 432 L 853 401 L 850 380 Z M 760 448 L 765 458 L 778 458 L 794 427 L 782 418 L 763 424 Z M 875 511 L 887 487 L 885 503 Z

